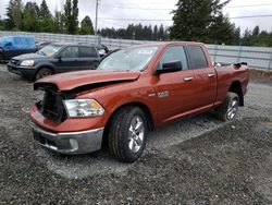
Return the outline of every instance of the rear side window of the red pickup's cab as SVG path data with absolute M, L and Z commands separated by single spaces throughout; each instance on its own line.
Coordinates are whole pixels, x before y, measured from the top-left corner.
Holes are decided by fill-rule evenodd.
M 187 46 L 191 69 L 203 69 L 208 67 L 205 52 L 200 46 Z

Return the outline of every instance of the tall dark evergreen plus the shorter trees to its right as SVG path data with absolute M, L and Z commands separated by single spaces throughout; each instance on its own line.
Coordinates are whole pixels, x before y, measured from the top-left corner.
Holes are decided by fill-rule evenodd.
M 219 45 L 272 46 L 272 32 L 260 31 L 259 26 L 252 31 L 246 29 L 242 35 L 240 28 L 223 14 L 223 8 L 230 1 L 178 0 L 177 9 L 172 12 L 174 15 L 170 39 Z

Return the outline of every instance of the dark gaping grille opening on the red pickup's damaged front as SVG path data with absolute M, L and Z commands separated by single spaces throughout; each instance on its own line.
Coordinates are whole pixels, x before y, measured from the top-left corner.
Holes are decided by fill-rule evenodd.
M 60 93 L 45 92 L 44 99 L 37 106 L 46 118 L 55 122 L 63 122 L 67 118 L 62 102 L 63 99 L 64 97 Z

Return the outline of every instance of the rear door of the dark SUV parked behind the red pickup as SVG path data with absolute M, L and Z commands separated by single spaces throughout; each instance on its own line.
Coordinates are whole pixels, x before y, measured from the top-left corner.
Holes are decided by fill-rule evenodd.
M 96 69 L 99 62 L 98 52 L 95 47 L 79 47 L 79 64 L 82 70 Z

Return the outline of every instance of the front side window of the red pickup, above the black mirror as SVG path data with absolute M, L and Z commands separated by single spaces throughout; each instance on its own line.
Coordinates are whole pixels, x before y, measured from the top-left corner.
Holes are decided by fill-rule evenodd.
M 183 70 L 188 70 L 186 53 L 183 46 L 174 46 L 169 48 L 161 57 L 161 65 L 166 62 L 181 61 Z

